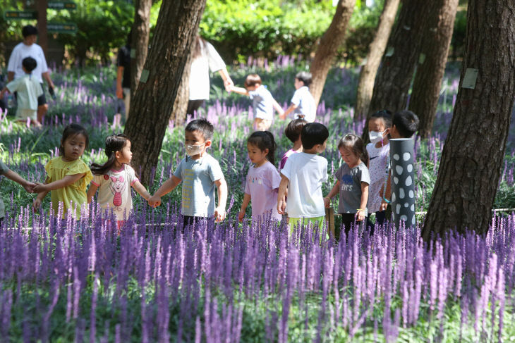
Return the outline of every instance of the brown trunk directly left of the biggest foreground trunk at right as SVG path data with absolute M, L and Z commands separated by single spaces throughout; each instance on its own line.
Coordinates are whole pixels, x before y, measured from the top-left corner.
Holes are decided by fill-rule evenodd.
M 435 121 L 458 0 L 432 0 L 432 6 L 409 101 L 409 109 L 420 119 L 418 135 L 423 138 L 429 137 Z

